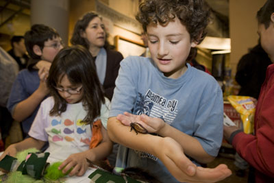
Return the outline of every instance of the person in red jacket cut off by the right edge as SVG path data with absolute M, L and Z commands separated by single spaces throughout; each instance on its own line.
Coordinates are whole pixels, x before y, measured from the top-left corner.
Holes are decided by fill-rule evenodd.
M 258 34 L 262 48 L 274 62 L 274 1 L 268 0 L 257 13 Z M 266 71 L 254 119 L 254 134 L 237 127 L 224 126 L 224 137 L 252 167 L 256 182 L 274 180 L 274 64 Z

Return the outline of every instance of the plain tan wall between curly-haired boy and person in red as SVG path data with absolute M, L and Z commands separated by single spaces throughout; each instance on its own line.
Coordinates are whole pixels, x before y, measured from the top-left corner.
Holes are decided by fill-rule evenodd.
M 230 0 L 229 32 L 232 52 L 230 66 L 236 73 L 238 60 L 258 42 L 256 14 L 266 0 Z

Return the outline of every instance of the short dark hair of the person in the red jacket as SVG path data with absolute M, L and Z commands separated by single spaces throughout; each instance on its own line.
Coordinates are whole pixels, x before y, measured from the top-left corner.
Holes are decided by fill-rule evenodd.
M 257 19 L 259 24 L 264 24 L 264 27 L 269 28 L 271 21 L 271 14 L 274 12 L 274 1 L 268 0 L 262 8 L 257 12 Z

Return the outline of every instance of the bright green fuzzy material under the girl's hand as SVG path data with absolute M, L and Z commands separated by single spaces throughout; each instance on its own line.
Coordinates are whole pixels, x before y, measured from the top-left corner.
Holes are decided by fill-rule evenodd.
M 49 165 L 49 167 L 46 169 L 46 174 L 44 177 L 49 180 L 58 180 L 68 175 L 73 170 L 73 168 L 71 168 L 64 174 L 62 173 L 62 170 L 58 169 L 60 164 L 62 164 L 62 162 L 54 162 L 53 164 Z

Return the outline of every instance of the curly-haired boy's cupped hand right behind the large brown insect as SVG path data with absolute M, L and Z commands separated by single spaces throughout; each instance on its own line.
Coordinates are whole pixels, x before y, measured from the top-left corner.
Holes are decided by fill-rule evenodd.
M 119 114 L 116 117 L 123 125 L 129 126 L 130 123 L 140 123 L 149 133 L 158 133 L 166 123 L 160 118 L 148 117 L 145 114 L 135 115 L 129 112 L 124 112 L 124 114 Z

